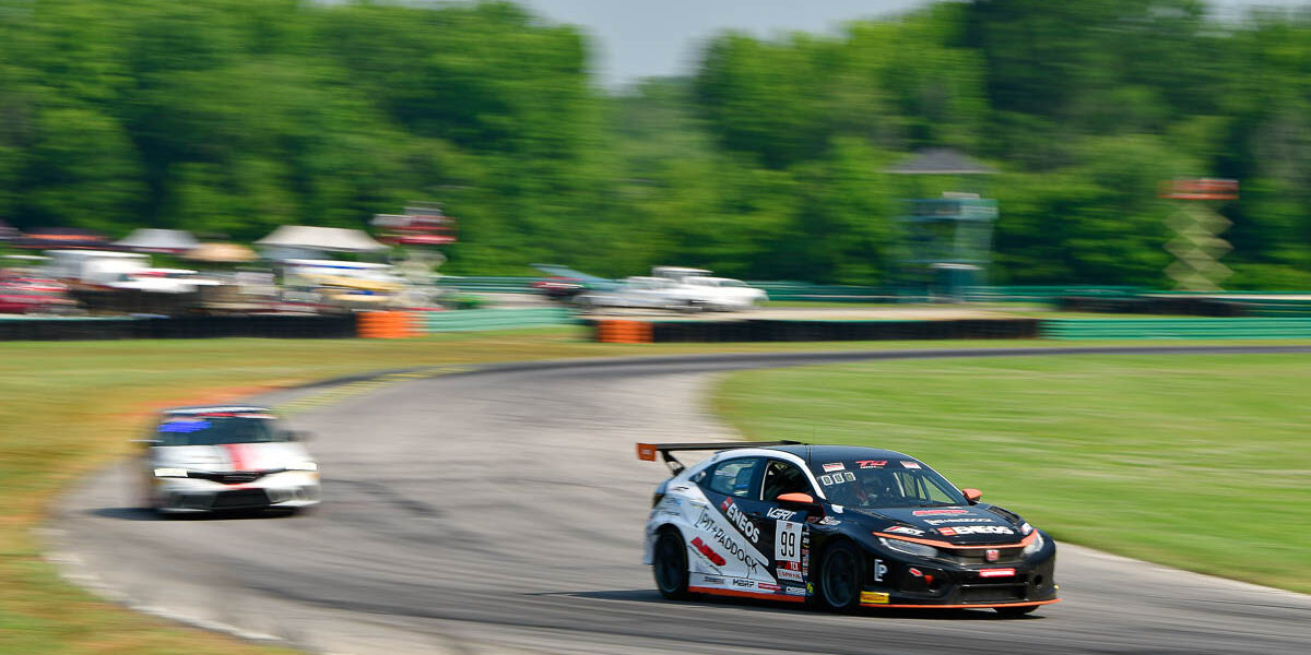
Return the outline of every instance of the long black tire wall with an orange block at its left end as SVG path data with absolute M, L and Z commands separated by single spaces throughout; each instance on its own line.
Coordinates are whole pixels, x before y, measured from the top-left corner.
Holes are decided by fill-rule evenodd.
M 1038 335 L 1037 318 L 957 321 L 587 321 L 604 342 L 787 342 L 1025 339 Z

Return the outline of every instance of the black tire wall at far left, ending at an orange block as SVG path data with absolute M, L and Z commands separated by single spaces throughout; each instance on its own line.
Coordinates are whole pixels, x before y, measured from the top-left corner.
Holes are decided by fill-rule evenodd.
M 355 335 L 353 316 L 195 316 L 173 318 L 7 318 L 0 341 L 340 339 Z

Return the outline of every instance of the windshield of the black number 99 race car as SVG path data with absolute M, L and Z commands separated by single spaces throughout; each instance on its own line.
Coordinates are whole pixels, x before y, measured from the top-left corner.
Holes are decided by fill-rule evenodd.
M 933 507 L 966 504 L 947 478 L 911 460 L 851 460 L 815 465 L 829 500 L 850 507 Z

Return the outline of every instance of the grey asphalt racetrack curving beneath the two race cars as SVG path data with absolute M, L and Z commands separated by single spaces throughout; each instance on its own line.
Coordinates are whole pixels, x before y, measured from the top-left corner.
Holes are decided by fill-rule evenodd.
M 1036 352 L 954 352 L 1015 354 Z M 312 652 L 1311 652 L 1311 596 L 1067 544 L 1063 603 L 1019 620 L 661 599 L 640 558 L 666 469 L 633 443 L 734 439 L 705 409 L 714 372 L 948 355 L 591 360 L 396 383 L 296 417 L 316 434 L 317 511 L 157 520 L 123 462 L 71 490 L 50 557 L 132 607 Z

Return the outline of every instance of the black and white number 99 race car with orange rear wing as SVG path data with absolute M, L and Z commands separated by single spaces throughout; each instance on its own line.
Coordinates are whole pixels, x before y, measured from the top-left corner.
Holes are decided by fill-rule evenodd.
M 684 468 L 673 451 L 718 451 Z M 796 441 L 637 444 L 670 465 L 646 521 L 645 563 L 692 593 L 872 608 L 1057 603 L 1057 545 L 893 451 Z

